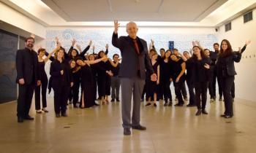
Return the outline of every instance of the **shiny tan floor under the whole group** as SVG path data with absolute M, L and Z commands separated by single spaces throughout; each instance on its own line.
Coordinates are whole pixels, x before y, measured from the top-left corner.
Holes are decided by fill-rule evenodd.
M 123 135 L 121 103 L 91 109 L 73 109 L 69 117 L 56 118 L 53 100 L 48 114 L 34 121 L 17 122 L 16 103 L 0 105 L 1 153 L 159 152 L 159 153 L 255 153 L 256 102 L 235 100 L 235 116 L 219 117 L 224 103 L 207 103 L 208 115 L 195 116 L 196 108 L 141 106 L 141 124 L 146 131 Z

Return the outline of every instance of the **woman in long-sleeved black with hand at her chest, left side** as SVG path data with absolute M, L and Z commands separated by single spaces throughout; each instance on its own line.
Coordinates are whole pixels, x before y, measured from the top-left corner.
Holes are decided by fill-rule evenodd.
M 67 100 L 70 87 L 73 86 L 72 72 L 68 61 L 64 59 L 64 52 L 63 48 L 59 49 L 56 52 L 56 60 L 50 63 L 56 117 L 67 117 Z

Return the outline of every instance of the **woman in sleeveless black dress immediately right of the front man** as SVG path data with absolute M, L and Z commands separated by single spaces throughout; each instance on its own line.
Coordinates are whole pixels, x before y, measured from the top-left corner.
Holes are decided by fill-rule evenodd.
M 157 106 L 156 102 L 157 102 L 157 94 L 159 93 L 159 77 L 160 77 L 160 66 L 159 66 L 159 63 L 157 62 L 157 58 L 158 58 L 157 53 L 154 53 L 151 56 L 151 63 L 152 63 L 154 72 L 157 74 L 157 82 L 150 81 L 148 84 L 147 93 L 148 93 L 149 98 L 148 98 L 148 103 L 146 104 L 146 106 L 151 105 L 150 101 L 152 99 L 154 99 L 154 106 L 155 107 Z

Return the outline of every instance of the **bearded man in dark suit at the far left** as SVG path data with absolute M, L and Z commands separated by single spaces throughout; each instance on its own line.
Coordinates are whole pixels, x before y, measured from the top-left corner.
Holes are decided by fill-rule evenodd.
M 38 70 L 37 52 L 33 50 L 34 38 L 26 39 L 26 48 L 18 50 L 16 54 L 16 69 L 18 83 L 18 103 L 17 117 L 18 122 L 23 122 L 23 119 L 33 120 L 29 116 L 29 109 L 34 93 L 35 85 L 40 85 Z

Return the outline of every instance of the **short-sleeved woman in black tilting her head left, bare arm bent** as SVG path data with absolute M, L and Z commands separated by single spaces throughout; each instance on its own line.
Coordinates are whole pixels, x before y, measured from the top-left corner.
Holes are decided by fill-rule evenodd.
M 172 60 L 170 64 L 172 71 L 170 77 L 173 80 L 175 93 L 178 98 L 178 103 L 176 103 L 175 106 L 183 106 L 184 101 L 181 95 L 181 88 L 185 81 L 186 63 L 181 58 L 177 58 L 174 54 L 170 55 L 170 58 Z

